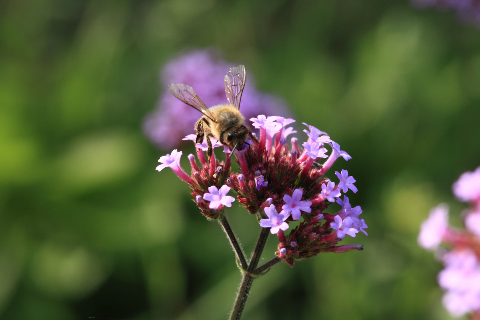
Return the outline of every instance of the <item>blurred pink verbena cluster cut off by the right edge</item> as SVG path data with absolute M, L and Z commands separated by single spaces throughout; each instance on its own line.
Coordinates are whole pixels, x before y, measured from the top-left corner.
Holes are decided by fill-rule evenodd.
M 470 319 L 480 319 L 480 167 L 462 174 L 453 193 L 470 205 L 464 214 L 465 229 L 449 226 L 448 207 L 440 204 L 422 223 L 418 243 L 437 250 L 444 263 L 445 269 L 438 274 L 438 283 L 446 291 L 444 307 L 454 317 L 470 314 Z M 449 249 L 439 249 L 441 243 Z

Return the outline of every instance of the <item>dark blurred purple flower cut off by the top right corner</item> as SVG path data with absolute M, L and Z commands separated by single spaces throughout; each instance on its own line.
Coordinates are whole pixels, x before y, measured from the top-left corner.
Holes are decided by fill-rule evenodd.
M 412 0 L 412 3 L 418 8 L 454 10 L 461 20 L 480 26 L 480 0 Z

